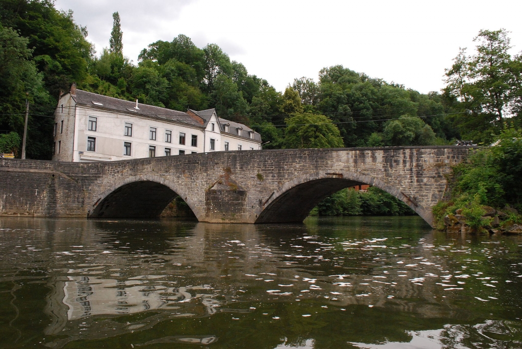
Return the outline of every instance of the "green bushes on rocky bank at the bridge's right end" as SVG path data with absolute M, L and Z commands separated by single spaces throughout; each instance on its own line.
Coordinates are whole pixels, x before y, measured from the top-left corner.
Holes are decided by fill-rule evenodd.
M 522 132 L 504 130 L 494 146 L 474 151 L 448 179 L 450 197 L 433 209 L 438 228 L 516 232 L 513 226 L 522 223 Z

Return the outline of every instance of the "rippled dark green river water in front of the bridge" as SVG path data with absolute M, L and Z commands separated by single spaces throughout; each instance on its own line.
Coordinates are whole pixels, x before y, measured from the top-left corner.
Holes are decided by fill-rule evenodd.
M 520 348 L 522 238 L 0 219 L 0 347 Z

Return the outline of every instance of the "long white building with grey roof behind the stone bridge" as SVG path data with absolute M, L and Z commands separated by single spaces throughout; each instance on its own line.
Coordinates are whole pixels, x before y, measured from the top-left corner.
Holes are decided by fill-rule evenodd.
M 211 151 L 258 150 L 261 136 L 214 109 L 179 112 L 77 90 L 55 112 L 53 160 L 114 161 Z

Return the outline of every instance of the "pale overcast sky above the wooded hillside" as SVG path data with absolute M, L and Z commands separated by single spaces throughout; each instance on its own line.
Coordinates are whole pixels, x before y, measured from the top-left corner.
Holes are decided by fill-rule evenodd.
M 123 53 L 185 34 L 198 47 L 218 44 L 248 73 L 283 91 L 294 78 L 317 81 L 323 67 L 343 65 L 420 92 L 444 86 L 444 68 L 459 47 L 473 51 L 480 29 L 511 31 L 522 50 L 522 1 L 56 0 L 72 9 L 97 52 L 109 46 L 118 11 Z

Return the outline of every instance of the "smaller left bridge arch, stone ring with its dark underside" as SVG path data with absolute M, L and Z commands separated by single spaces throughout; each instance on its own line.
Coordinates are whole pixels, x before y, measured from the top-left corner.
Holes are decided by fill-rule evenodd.
M 92 203 L 89 217 L 157 217 L 177 195 L 187 203 L 198 220 L 203 217 L 183 188 L 168 179 L 150 174 L 127 177 L 105 189 Z

